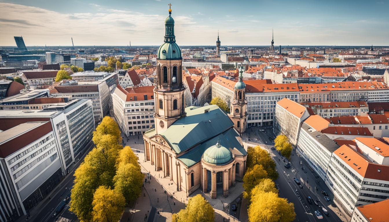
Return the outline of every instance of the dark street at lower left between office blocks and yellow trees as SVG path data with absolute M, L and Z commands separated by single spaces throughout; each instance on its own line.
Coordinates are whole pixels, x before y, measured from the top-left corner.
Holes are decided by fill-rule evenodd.
M 39 211 L 36 213 L 31 212 L 31 217 L 28 219 L 29 221 L 34 222 L 54 222 L 58 218 L 67 219 L 67 221 L 75 221 L 76 216 L 74 213 L 69 211 L 69 204 L 67 204 L 62 212 L 60 212 L 59 217 L 54 217 L 53 214 L 57 209 L 58 205 L 60 205 L 61 201 L 66 198 L 67 195 L 70 196 L 70 190 L 73 187 L 74 181 L 74 171 L 77 167 L 82 163 L 84 157 L 88 152 L 94 147 L 93 142 L 89 143 L 89 146 L 86 147 L 83 154 L 77 157 L 76 163 L 71 166 L 71 170 L 68 175 L 57 185 L 57 188 L 54 190 L 52 194 L 50 194 L 47 198 L 42 200 L 41 205 L 39 207 Z M 50 199 L 49 199 L 50 198 Z

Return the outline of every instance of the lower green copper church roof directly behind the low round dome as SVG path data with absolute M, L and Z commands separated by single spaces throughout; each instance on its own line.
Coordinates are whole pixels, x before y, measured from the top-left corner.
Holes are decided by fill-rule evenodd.
M 240 155 L 245 156 L 247 152 L 242 147 L 239 140 L 237 140 L 238 136 L 239 135 L 235 131 L 235 129 L 230 128 L 227 131 L 219 135 L 216 135 L 213 138 L 203 143 L 196 145 L 185 154 L 182 154 L 181 156 L 177 157 L 177 159 L 182 161 L 182 163 L 184 163 L 187 167 L 193 166 L 194 164 L 198 163 L 201 160 L 204 152 L 206 152 L 206 150 L 209 149 L 209 147 L 215 145 L 219 139 L 220 139 L 220 144 L 223 147 L 226 147 L 227 149 L 237 149 Z

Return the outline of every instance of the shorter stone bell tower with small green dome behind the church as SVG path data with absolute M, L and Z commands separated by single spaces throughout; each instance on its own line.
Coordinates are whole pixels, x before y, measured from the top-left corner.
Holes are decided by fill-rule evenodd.
M 234 123 L 234 128 L 242 134 L 246 131 L 246 84 L 243 82 L 243 66 L 239 68 L 239 81 L 234 86 L 234 100 L 231 102 L 230 119 Z

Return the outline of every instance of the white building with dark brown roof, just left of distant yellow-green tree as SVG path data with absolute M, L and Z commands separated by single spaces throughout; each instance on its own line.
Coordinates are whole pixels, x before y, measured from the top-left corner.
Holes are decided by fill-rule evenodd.
M 29 89 L 44 89 L 55 82 L 58 70 L 23 71 L 21 79 Z

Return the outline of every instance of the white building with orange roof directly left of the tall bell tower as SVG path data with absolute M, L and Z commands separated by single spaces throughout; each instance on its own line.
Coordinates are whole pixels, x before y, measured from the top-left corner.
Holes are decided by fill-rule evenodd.
M 111 93 L 114 117 L 127 136 L 142 135 L 154 128 L 153 86 L 117 86 Z

